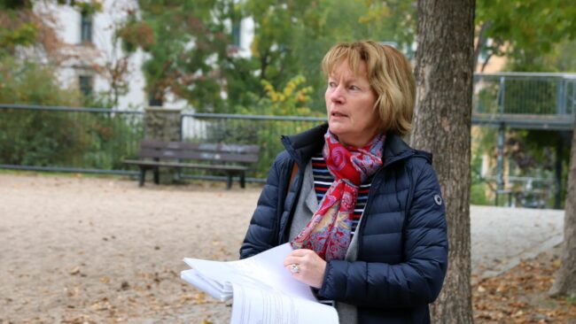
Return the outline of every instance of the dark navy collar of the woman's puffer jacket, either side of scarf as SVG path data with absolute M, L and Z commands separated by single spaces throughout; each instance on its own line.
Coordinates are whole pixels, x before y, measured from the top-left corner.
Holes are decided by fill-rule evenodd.
M 296 163 L 303 167 L 310 158 L 312 158 L 324 145 L 324 134 L 328 130 L 328 123 L 308 129 L 297 135 L 282 136 L 284 148 Z M 423 150 L 414 150 L 407 143 L 402 141 L 399 135 L 389 133 L 386 135 L 384 145 L 384 166 L 389 166 L 397 161 L 411 156 L 425 158 L 428 163 L 432 164 L 432 154 Z

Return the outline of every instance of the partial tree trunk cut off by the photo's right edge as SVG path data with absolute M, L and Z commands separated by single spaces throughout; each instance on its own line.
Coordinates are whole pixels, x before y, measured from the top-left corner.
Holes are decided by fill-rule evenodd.
M 576 120 L 572 131 L 561 260 L 562 263 L 557 271 L 556 281 L 550 289 L 550 295 L 576 297 Z

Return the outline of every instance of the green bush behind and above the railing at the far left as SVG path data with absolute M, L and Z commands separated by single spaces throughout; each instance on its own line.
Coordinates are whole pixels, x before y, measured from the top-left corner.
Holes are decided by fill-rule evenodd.
M 0 59 L 0 103 L 79 106 L 48 66 Z M 0 110 L 0 164 L 121 168 L 142 137 L 138 120 L 91 112 Z

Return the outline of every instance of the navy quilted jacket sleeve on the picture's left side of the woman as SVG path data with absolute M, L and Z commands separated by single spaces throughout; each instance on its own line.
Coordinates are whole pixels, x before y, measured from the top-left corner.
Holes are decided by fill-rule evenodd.
M 240 258 L 252 257 L 276 246 L 278 219 L 278 186 L 281 157 L 276 158 L 262 189 L 256 210 L 240 248 Z

